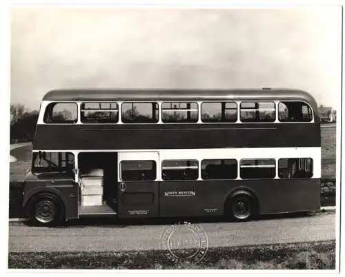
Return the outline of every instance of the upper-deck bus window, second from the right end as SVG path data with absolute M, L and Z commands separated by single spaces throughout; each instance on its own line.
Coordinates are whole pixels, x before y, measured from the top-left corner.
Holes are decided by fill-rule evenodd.
M 274 102 L 242 102 L 240 105 L 242 122 L 274 122 Z

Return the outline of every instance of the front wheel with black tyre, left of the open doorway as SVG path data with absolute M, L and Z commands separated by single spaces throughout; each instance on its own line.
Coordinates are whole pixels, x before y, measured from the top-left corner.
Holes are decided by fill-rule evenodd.
M 64 206 L 54 194 L 43 193 L 34 196 L 28 205 L 30 224 L 34 226 L 53 226 L 62 223 Z

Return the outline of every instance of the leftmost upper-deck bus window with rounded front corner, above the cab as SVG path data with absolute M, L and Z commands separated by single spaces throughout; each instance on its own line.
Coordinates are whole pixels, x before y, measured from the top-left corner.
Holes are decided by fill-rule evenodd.
M 46 107 L 44 123 L 76 123 L 78 119 L 76 103 L 50 103 Z

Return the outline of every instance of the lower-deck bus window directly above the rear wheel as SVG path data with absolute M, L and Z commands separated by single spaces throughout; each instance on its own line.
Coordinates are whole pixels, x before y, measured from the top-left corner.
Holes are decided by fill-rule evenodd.
M 275 178 L 275 159 L 245 159 L 241 160 L 240 176 L 242 179 Z

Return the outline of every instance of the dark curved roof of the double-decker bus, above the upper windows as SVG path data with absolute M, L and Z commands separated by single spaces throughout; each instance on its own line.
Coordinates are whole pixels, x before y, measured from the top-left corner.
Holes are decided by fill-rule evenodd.
M 303 90 L 290 89 L 232 89 L 232 90 L 181 90 L 181 89 L 65 89 L 51 90 L 43 101 L 306 101 L 314 110 L 317 103 Z

